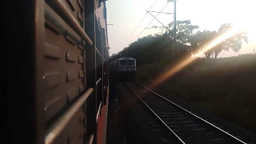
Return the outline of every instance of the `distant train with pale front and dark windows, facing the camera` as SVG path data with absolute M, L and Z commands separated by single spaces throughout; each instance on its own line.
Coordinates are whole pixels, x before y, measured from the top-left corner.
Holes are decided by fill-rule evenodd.
M 122 57 L 110 62 L 110 79 L 134 80 L 137 71 L 136 59 Z

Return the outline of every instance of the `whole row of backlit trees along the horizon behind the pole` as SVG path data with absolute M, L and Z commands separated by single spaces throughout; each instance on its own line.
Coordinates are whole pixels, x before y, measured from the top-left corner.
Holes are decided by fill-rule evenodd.
M 150 34 L 138 38 L 118 54 L 113 54 L 110 62 L 121 57 L 132 57 L 139 64 L 161 61 L 163 58 L 172 58 L 173 55 L 173 33 L 174 22 L 168 24 L 169 30 L 162 28 L 158 34 Z M 222 24 L 218 30 L 198 30 L 199 26 L 193 25 L 190 20 L 177 21 L 175 42 L 175 59 L 184 55 L 197 54 L 202 48 L 209 45 L 214 39 L 233 28 L 230 23 Z M 230 38 L 219 42 L 218 45 L 204 53 L 204 58 L 218 58 L 222 50 L 238 52 L 242 43 L 248 42 L 246 31 L 234 34 Z

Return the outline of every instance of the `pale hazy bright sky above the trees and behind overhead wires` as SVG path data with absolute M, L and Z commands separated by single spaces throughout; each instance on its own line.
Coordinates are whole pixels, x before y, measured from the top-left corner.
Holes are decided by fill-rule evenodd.
M 155 2 L 155 4 L 154 4 Z M 146 29 L 153 17 L 146 14 L 146 10 L 154 4 L 151 11 L 160 11 L 167 4 L 167 0 L 108 0 L 107 23 L 110 54 L 116 54 L 130 43 L 149 34 L 156 34 L 158 29 Z M 219 57 L 230 57 L 238 54 L 256 53 L 256 14 L 254 0 L 177 0 L 177 21 L 191 20 L 198 25 L 199 30 L 218 30 L 224 23 L 246 28 L 249 42 L 242 45 L 238 53 L 223 51 Z M 174 2 L 169 2 L 162 12 L 173 13 Z M 151 13 L 154 16 L 157 13 Z M 164 25 L 173 22 L 173 14 L 158 14 L 158 20 Z M 138 26 L 138 23 L 142 23 Z M 135 28 L 138 26 L 138 29 Z M 150 26 L 162 26 L 154 20 Z M 135 31 L 134 31 L 135 30 Z M 142 32 L 142 30 L 144 30 Z M 134 31 L 134 34 L 132 34 Z M 142 32 L 142 34 L 140 34 Z M 131 35 L 132 34 L 132 35 Z M 139 34 L 139 35 L 138 35 Z M 136 38 L 138 36 L 138 38 Z

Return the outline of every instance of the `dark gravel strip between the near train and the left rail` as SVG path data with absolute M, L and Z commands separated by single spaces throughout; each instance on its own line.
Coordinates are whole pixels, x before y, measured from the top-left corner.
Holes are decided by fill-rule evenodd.
M 117 84 L 118 109 L 109 112 L 106 143 L 170 143 L 172 137 L 166 135 L 170 132 L 162 130 L 158 119 L 123 83 Z

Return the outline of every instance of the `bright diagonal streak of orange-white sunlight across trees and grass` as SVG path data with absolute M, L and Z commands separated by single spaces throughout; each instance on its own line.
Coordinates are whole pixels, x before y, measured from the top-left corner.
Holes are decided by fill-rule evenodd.
M 164 74 L 162 74 L 159 78 L 157 78 L 150 86 L 149 88 L 153 88 L 155 86 L 158 86 L 162 82 L 164 82 L 167 78 L 170 78 L 175 73 L 177 73 L 179 70 L 182 70 L 185 66 L 189 65 L 191 62 L 193 62 L 197 56 L 201 54 L 205 54 L 208 50 L 212 49 L 214 46 L 217 46 L 220 42 L 224 41 L 227 38 L 232 37 L 234 34 L 238 34 L 242 32 L 244 28 L 240 26 L 234 26 L 230 30 L 226 31 L 226 33 L 220 35 L 218 38 L 214 39 L 214 41 L 208 43 L 205 47 L 202 47 L 198 50 L 196 54 L 194 54 L 194 57 L 185 58 L 182 60 L 182 62 L 179 62 L 178 64 L 172 66 L 170 70 L 167 70 Z

